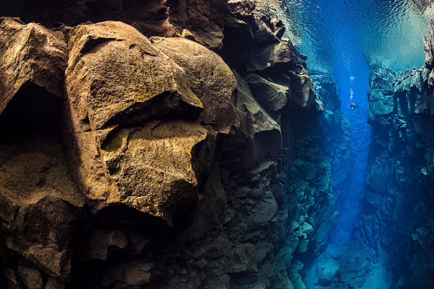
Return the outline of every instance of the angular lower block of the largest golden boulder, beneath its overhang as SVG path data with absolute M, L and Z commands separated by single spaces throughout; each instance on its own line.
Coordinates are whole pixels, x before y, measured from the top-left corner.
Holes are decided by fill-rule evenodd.
M 150 122 L 119 130 L 101 149 L 116 185 L 107 202 L 126 204 L 171 225 L 197 204 L 195 174 L 209 169 L 207 147 L 207 130 L 197 122 Z

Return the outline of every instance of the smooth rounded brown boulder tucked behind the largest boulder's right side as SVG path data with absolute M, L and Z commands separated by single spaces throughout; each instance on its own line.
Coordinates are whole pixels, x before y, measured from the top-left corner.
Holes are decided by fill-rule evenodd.
M 204 106 L 198 121 L 218 133 L 233 135 L 240 125 L 235 108 L 237 80 L 221 57 L 183 38 L 153 37 L 151 42 L 185 70 Z

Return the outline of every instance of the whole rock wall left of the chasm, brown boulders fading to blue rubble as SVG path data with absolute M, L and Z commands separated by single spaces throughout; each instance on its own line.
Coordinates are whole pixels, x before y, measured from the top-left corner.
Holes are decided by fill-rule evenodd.
M 283 23 L 250 0 L 65 5 L 8 2 L 51 29 L 0 18 L 2 286 L 304 288 L 350 152 L 321 141 L 347 122 L 319 116 Z

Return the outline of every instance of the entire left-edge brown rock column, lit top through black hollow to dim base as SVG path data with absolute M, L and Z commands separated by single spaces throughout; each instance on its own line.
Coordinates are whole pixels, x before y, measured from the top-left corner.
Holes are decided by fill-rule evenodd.
M 1 18 L 0 217 L 8 249 L 69 279 L 83 206 L 56 131 L 66 45 L 44 27 Z M 35 270 L 36 272 L 39 272 Z

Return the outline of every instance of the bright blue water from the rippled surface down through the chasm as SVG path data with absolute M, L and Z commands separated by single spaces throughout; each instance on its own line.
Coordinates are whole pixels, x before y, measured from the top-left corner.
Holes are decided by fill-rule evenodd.
M 308 56 L 309 72 L 328 73 L 333 77 L 341 92 L 342 110 L 352 125 L 355 165 L 342 199 L 336 202 L 335 209 L 340 212 L 339 224 L 332 233 L 332 243 L 327 247 L 329 252 L 339 248 L 351 253 L 346 244 L 349 244 L 348 240 L 355 239 L 359 200 L 366 183 L 368 144 L 371 141 L 370 128 L 366 124 L 369 71 L 380 67 L 401 71 L 424 64 L 423 36 L 428 35 L 428 23 L 434 17 L 434 9 L 424 7 L 424 1 L 279 0 L 283 11 L 276 9 L 277 14 L 281 14 L 276 16 L 284 19 L 286 37 Z M 352 110 L 347 108 L 350 102 L 362 104 L 357 110 Z M 336 284 L 328 286 L 319 282 L 320 273 L 326 271 L 327 260 L 331 256 L 327 250 L 317 259 L 306 262 L 300 271 L 308 289 L 338 288 Z M 356 251 L 353 250 L 353 253 Z M 363 284 L 356 287 L 394 288 L 400 273 L 392 272 L 391 256 L 384 250 L 373 252 L 368 247 L 360 248 L 358 253 L 362 251 L 369 262 L 345 265 L 348 268 L 369 268 L 368 274 L 360 275 Z M 341 268 L 340 272 L 348 268 Z

